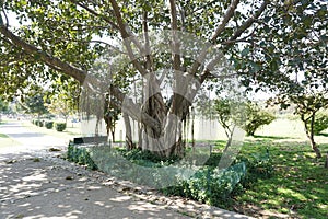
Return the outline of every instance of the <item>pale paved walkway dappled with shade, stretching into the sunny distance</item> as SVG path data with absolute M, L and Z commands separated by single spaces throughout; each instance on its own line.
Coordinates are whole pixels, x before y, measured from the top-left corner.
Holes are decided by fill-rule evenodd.
M 61 139 L 0 125 L 21 146 L 0 150 L 0 218 L 248 218 L 122 182 L 61 159 Z

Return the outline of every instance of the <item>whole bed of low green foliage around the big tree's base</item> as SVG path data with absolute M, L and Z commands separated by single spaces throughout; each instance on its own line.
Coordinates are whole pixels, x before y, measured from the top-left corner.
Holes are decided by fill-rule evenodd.
M 259 178 L 268 178 L 273 175 L 273 166 L 268 153 L 253 154 L 249 158 L 242 155 L 232 166 L 219 170 L 221 153 L 215 152 L 211 154 L 203 166 L 194 166 L 195 174 L 187 178 L 179 175 L 179 172 L 188 170 L 181 164 L 165 174 L 159 172 L 159 170 L 178 162 L 177 158 L 163 161 L 160 157 L 154 157 L 151 152 L 140 149 L 127 151 L 125 149 L 110 150 L 108 146 L 70 145 L 67 154 L 70 161 L 87 165 L 91 169 L 97 168 L 119 178 L 149 186 L 161 185 L 161 182 L 166 182 L 167 178 L 175 178 L 175 185 L 161 191 L 167 195 L 179 195 L 221 207 L 226 205 L 233 194 L 246 189 Z M 141 168 L 136 169 L 136 165 Z

